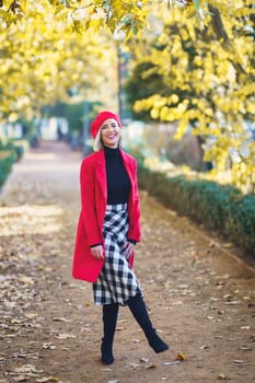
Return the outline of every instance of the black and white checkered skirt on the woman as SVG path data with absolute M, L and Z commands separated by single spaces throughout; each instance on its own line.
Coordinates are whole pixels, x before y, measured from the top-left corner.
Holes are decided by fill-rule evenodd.
M 127 232 L 127 204 L 107 205 L 103 225 L 105 263 L 97 281 L 93 283 L 96 304 L 125 305 L 129 298 L 141 293 L 135 272 L 124 255 Z

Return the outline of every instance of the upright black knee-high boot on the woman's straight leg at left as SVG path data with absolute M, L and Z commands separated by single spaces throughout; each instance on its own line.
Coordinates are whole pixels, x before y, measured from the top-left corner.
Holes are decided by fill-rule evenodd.
M 118 304 L 104 304 L 103 305 L 103 325 L 104 337 L 102 338 L 101 352 L 102 362 L 104 364 L 112 364 L 114 362 L 113 356 L 113 343 L 114 334 L 118 317 Z

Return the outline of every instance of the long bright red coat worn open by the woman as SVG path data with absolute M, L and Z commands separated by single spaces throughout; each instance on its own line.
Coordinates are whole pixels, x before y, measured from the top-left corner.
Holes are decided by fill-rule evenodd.
M 130 178 L 131 190 L 128 200 L 128 237 L 140 241 L 140 198 L 137 182 L 136 160 L 120 150 L 124 166 Z M 81 164 L 81 212 L 77 229 L 72 276 L 77 279 L 95 282 L 104 262 L 91 254 L 91 245 L 103 243 L 103 223 L 107 204 L 107 179 L 104 150 L 100 150 Z M 134 256 L 129 258 L 132 266 Z

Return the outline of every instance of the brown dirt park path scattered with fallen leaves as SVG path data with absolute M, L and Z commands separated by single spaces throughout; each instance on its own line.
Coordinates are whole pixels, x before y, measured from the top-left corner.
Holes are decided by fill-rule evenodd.
M 121 307 L 116 361 L 101 364 L 101 307 L 71 277 L 80 162 L 42 142 L 1 190 L 0 383 L 255 382 L 253 269 L 144 192 L 135 269 L 171 350 L 154 355 Z

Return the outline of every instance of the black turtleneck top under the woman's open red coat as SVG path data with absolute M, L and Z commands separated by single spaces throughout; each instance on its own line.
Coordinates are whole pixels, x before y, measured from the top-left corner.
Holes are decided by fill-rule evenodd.
M 107 175 L 107 204 L 126 204 L 130 193 L 130 179 L 124 166 L 119 148 L 105 147 Z

